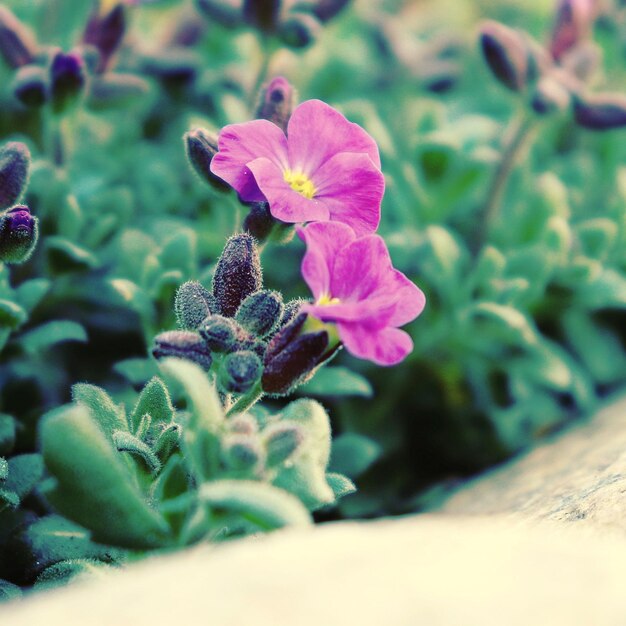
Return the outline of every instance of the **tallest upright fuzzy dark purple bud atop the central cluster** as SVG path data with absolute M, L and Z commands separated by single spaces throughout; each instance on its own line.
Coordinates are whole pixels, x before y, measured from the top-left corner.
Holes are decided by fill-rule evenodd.
M 233 317 L 241 303 L 263 286 L 259 251 L 248 233 L 226 242 L 213 275 L 213 295 L 222 315 Z

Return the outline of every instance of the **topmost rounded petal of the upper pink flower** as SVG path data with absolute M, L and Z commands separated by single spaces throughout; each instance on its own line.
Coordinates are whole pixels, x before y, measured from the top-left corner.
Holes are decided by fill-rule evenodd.
M 321 100 L 307 100 L 296 107 L 289 120 L 287 137 L 291 168 L 307 176 L 341 152 L 365 153 L 380 169 L 374 139 Z

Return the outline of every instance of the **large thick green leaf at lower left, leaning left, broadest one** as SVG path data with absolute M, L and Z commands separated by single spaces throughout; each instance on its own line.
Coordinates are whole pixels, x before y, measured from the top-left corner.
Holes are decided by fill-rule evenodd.
M 167 545 L 168 526 L 137 489 L 129 468 L 86 407 L 44 416 L 41 445 L 58 484 L 47 494 L 66 517 L 98 542 L 146 549 Z

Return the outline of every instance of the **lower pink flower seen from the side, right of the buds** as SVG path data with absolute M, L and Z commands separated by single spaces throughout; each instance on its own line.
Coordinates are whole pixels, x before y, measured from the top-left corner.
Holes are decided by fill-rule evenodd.
M 379 365 L 399 363 L 413 349 L 398 326 L 423 310 L 422 291 L 391 265 L 378 235 L 357 238 L 345 224 L 298 228 L 307 246 L 302 276 L 315 296 L 302 310 L 336 324 L 348 352 Z

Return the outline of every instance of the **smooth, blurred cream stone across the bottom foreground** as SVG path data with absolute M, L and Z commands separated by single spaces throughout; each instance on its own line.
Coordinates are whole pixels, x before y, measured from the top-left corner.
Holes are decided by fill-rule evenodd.
M 328 524 L 154 558 L 10 626 L 623 626 L 626 542 L 498 518 Z

